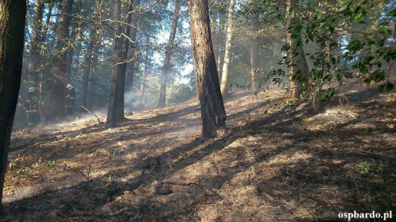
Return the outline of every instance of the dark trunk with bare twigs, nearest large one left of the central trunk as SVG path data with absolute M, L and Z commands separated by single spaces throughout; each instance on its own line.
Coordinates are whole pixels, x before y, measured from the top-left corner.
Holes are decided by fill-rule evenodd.
M 132 9 L 131 5 L 124 5 L 121 10 L 121 1 L 114 2 L 114 16 L 121 21 L 121 17 L 126 18 L 126 23 L 130 23 Z M 122 16 L 121 16 L 122 15 Z M 128 55 L 129 41 L 122 34 L 130 33 L 130 26 L 115 23 L 116 35 L 114 37 L 113 51 L 113 78 L 110 86 L 110 101 L 107 112 L 106 126 L 115 127 L 116 123 L 124 118 L 124 92 L 125 92 L 125 71 Z

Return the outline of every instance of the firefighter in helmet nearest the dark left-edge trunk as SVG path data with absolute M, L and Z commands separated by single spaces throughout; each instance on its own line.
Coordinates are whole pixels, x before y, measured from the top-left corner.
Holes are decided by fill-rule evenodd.
M 35 87 L 30 87 L 26 94 L 24 103 L 26 110 L 27 125 L 33 127 L 40 122 L 39 115 L 39 96 Z

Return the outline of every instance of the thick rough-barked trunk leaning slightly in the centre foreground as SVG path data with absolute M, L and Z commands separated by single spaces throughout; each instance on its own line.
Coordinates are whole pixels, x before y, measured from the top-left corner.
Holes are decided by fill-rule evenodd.
M 188 0 L 188 8 L 195 79 L 201 103 L 202 136 L 222 136 L 226 131 L 226 115 L 211 41 L 208 1 Z

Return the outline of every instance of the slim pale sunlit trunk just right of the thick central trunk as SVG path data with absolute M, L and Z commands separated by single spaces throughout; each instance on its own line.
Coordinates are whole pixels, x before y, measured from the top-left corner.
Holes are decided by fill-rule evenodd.
M 257 0 L 253 1 L 253 14 L 251 19 L 252 25 L 252 39 L 251 39 L 251 49 L 250 49 L 250 74 L 251 74 L 251 86 L 252 90 L 259 90 L 258 88 L 258 79 L 257 76 L 260 75 L 258 69 L 258 40 L 257 40 L 257 31 L 258 31 L 258 13 L 257 13 Z M 256 71 L 257 70 L 257 71 Z

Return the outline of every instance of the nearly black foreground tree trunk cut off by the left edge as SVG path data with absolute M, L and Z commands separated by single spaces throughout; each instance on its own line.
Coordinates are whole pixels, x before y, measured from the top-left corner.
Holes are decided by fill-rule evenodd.
M 0 1 L 0 214 L 12 124 L 21 85 L 26 1 Z

